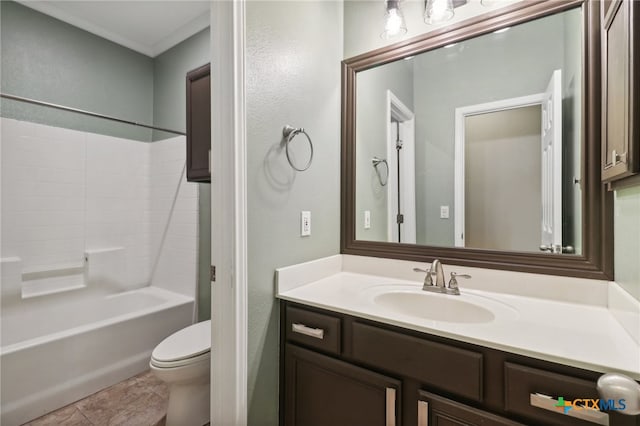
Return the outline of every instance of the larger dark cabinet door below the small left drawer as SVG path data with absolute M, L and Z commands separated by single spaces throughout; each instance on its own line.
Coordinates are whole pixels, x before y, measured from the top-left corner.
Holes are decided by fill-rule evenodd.
M 400 425 L 400 381 L 293 345 L 285 348 L 286 426 Z

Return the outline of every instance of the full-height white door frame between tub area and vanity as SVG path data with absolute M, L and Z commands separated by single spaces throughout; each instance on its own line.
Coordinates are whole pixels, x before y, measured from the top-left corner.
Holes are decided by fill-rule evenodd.
M 211 1 L 211 424 L 247 424 L 245 0 Z

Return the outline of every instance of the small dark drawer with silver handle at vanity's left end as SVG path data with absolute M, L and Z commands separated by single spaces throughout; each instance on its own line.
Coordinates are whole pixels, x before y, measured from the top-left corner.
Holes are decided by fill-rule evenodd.
M 288 341 L 340 354 L 340 318 L 287 306 L 285 326 Z

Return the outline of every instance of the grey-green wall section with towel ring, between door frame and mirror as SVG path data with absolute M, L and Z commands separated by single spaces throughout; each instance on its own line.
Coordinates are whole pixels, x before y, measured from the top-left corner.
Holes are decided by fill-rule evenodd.
M 341 2 L 247 2 L 250 425 L 278 424 L 274 270 L 340 249 L 341 60 Z M 287 164 L 286 124 L 304 127 L 313 140 L 305 172 Z M 311 211 L 309 237 L 300 237 L 301 210 Z

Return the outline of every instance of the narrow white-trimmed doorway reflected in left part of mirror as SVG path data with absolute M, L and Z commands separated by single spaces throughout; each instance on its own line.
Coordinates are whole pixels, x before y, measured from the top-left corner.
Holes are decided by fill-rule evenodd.
M 416 242 L 415 118 L 387 90 L 387 240 Z

